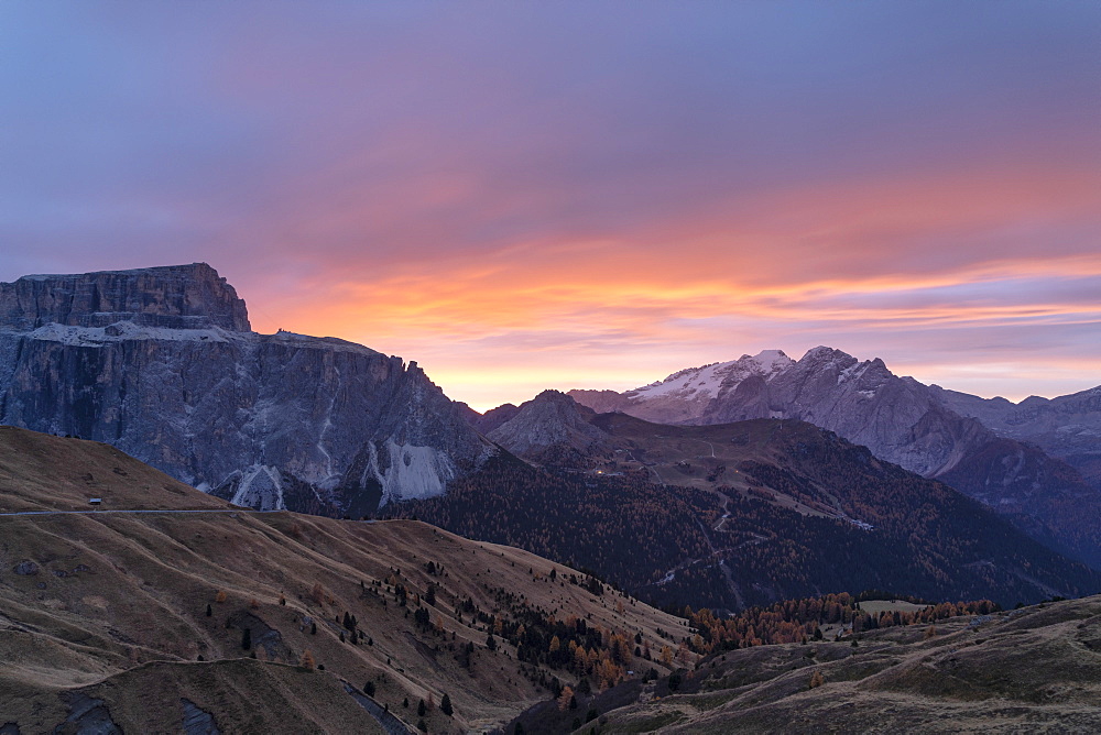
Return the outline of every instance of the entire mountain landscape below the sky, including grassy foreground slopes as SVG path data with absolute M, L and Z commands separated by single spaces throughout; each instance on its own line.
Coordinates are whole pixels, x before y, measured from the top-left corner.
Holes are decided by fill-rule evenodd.
M 481 415 L 206 264 L 0 284 L 0 735 L 1095 729 L 1097 600 L 995 611 L 1101 590 L 1098 394 L 817 348 Z

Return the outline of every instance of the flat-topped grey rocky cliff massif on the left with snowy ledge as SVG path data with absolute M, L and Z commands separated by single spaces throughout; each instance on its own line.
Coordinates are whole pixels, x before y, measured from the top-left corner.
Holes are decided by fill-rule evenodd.
M 241 505 L 353 516 L 491 452 L 416 363 L 249 331 L 196 264 L 0 284 L 0 421 L 103 441 Z

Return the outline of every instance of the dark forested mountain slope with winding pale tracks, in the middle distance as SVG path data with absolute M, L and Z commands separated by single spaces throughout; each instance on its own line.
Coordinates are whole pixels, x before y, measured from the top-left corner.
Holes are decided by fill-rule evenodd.
M 598 569 L 678 608 L 865 589 L 1012 605 L 1101 589 L 961 493 L 803 421 L 590 421 L 601 440 L 573 464 L 497 458 L 401 511 Z

